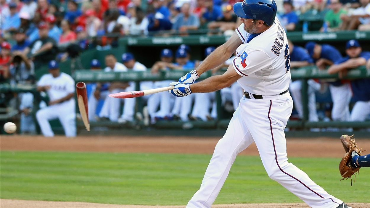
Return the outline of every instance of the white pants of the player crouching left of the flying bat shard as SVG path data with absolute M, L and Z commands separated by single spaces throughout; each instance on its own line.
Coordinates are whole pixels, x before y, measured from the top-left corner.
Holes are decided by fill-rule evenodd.
M 36 118 L 45 137 L 54 137 L 49 120 L 56 118 L 60 120 L 65 136 L 76 136 L 76 104 L 74 99 L 42 108 L 37 111 Z

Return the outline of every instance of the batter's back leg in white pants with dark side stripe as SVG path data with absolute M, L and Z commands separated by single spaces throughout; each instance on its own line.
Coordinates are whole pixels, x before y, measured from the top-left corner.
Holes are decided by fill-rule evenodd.
M 287 101 L 288 100 L 288 101 Z M 313 208 L 336 208 L 343 203 L 315 184 L 308 175 L 288 162 L 284 128 L 292 112 L 289 94 L 278 100 L 242 102 L 243 120 L 250 130 L 263 166 L 273 180 Z

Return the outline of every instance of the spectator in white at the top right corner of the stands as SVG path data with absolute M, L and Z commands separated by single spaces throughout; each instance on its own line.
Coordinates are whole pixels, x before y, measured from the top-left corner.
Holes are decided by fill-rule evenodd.
M 360 0 L 361 6 L 352 13 L 342 15 L 342 30 L 356 30 L 360 24 L 370 24 L 370 0 Z M 361 27 L 361 29 L 364 29 Z

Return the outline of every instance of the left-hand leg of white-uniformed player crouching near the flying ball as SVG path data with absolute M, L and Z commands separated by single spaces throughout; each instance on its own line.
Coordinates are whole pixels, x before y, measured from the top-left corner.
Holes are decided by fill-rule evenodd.
M 43 132 L 43 135 L 45 137 L 54 137 L 54 132 L 51 129 L 49 120 L 58 118 L 57 112 L 58 109 L 51 105 L 46 108 L 38 110 L 36 113 L 38 125 L 40 125 L 41 132 Z

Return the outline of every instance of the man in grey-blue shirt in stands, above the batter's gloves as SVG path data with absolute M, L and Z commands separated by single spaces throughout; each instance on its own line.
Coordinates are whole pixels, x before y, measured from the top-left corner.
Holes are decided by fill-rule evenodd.
M 172 25 L 172 30 L 179 30 L 180 32 L 186 32 L 188 30 L 197 30 L 199 28 L 199 18 L 190 13 L 190 4 L 184 3 L 181 7 L 181 13 L 175 18 L 175 22 Z

